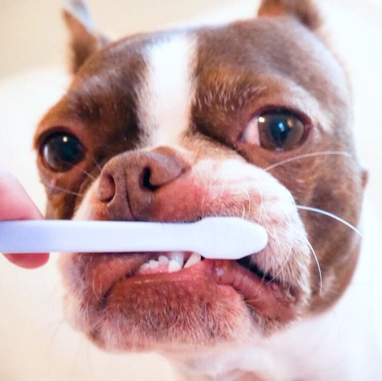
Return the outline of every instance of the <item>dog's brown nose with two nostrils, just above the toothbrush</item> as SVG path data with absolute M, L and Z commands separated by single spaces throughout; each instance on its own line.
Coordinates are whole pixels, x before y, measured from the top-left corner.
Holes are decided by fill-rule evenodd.
M 150 220 L 159 190 L 189 168 L 187 161 L 169 147 L 122 153 L 103 167 L 98 200 L 107 203 L 113 219 Z

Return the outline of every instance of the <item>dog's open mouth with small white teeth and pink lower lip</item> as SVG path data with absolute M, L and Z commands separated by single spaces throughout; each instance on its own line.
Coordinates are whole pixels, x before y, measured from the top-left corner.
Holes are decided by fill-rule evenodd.
M 100 298 L 100 310 L 113 303 L 122 289 L 159 288 L 164 283 L 195 284 L 203 280 L 219 287 L 232 287 L 243 302 L 267 319 L 288 322 L 295 318 L 298 290 L 283 285 L 262 271 L 252 256 L 239 260 L 211 260 L 198 253 L 163 252 L 119 254 L 125 260 L 125 272 L 115 279 Z M 118 297 L 118 300 L 120 297 Z

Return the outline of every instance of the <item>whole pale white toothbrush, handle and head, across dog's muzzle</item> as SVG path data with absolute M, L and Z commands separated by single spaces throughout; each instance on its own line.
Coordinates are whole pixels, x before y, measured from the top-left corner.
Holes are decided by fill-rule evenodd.
M 237 217 L 195 223 L 29 220 L 0 222 L 1 253 L 197 252 L 239 259 L 264 249 L 265 229 Z

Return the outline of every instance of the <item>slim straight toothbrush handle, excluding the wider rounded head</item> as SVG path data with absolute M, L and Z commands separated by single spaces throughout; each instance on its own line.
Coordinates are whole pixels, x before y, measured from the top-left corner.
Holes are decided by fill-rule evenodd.
M 145 252 L 185 250 L 182 224 L 29 220 L 0 222 L 0 252 Z M 184 225 L 184 224 L 183 224 Z

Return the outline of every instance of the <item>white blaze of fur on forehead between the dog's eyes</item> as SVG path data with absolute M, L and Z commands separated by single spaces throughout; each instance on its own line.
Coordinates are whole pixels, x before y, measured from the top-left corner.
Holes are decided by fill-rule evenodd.
M 138 116 L 153 145 L 176 144 L 189 126 L 195 94 L 194 36 L 166 36 L 147 47 L 147 77 L 139 91 Z

